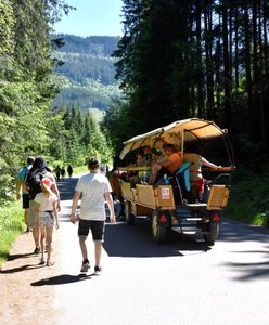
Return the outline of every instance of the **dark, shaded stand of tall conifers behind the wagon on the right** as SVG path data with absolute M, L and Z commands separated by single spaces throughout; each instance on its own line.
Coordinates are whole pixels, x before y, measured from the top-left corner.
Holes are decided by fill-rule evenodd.
M 175 120 L 214 120 L 234 148 L 230 214 L 269 225 L 269 1 L 124 0 L 123 12 L 114 56 L 126 102 L 104 119 L 116 152 Z

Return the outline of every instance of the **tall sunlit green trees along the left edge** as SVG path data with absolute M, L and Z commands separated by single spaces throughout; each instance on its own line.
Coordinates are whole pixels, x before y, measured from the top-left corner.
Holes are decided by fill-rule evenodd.
M 55 95 L 50 78 L 50 3 L 52 0 L 0 3 L 1 204 L 13 198 L 14 179 L 25 157 L 49 151 L 48 112 Z

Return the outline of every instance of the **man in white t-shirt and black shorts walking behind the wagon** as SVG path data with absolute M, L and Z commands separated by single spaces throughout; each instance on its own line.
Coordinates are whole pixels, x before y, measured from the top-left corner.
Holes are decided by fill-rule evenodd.
M 105 202 L 107 203 L 110 209 L 111 223 L 115 223 L 116 218 L 111 195 L 111 184 L 107 178 L 103 173 L 100 173 L 99 160 L 95 157 L 90 158 L 88 168 L 90 170 L 90 173 L 82 176 L 78 180 L 75 187 L 71 222 L 76 223 L 76 221 L 78 220 L 76 216 L 76 209 L 80 195 L 82 194 L 78 226 L 79 245 L 84 259 L 80 272 L 87 272 L 90 268 L 86 239 L 88 237 L 89 231 L 91 230 L 95 250 L 94 273 L 100 273 L 102 243 L 104 242 Z

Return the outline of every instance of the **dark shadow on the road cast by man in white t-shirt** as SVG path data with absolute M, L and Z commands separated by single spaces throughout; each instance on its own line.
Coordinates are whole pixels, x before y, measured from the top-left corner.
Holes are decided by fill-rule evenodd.
M 93 275 L 94 274 L 84 274 L 84 273 L 80 273 L 78 275 L 61 274 L 61 275 L 33 282 L 30 285 L 34 287 L 63 285 L 63 284 L 75 283 L 85 280 L 91 280 Z

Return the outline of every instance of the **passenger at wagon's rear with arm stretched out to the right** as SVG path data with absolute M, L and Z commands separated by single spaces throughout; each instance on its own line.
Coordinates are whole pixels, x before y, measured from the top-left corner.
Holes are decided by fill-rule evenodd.
M 217 166 L 204 157 L 196 153 L 187 152 L 183 156 L 183 161 L 190 161 L 190 181 L 191 181 L 191 191 L 194 199 L 203 200 L 205 179 L 202 174 L 202 166 L 207 166 L 210 168 L 219 168 L 221 166 Z

